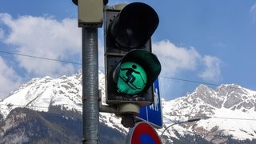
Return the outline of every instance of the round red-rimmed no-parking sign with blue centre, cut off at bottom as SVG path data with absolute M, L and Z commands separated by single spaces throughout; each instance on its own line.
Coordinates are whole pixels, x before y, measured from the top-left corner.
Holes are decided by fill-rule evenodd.
M 138 122 L 128 134 L 126 140 L 128 144 L 160 144 L 161 140 L 158 133 L 150 124 L 146 122 Z

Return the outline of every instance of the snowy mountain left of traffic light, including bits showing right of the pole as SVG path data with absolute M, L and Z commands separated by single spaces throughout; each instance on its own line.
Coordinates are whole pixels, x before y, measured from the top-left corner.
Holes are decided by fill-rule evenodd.
M 102 90 L 102 103 L 105 102 L 105 75 L 99 72 L 99 89 Z M 62 110 L 73 110 L 82 114 L 82 70 L 70 77 L 61 78 L 33 78 L 23 84 L 9 97 L 0 101 L 0 119 L 4 119 L 17 107 L 26 107 L 31 110 L 47 112 L 52 107 L 61 107 Z M 100 122 L 126 134 L 121 124 L 121 118 L 115 114 L 101 113 Z M 1 136 L 1 135 L 0 135 Z

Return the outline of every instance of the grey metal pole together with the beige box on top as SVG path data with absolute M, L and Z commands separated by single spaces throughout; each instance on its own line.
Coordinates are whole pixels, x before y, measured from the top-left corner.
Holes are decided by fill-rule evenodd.
M 82 143 L 98 143 L 98 27 L 102 27 L 103 2 L 72 2 L 78 6 L 78 27 L 82 27 Z

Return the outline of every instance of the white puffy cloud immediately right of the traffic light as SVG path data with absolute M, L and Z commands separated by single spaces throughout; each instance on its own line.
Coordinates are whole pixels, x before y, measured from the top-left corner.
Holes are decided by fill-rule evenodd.
M 174 77 L 180 71 L 190 70 L 206 82 L 218 82 L 221 77 L 221 60 L 210 55 L 201 56 L 194 47 L 175 46 L 166 40 L 154 43 L 153 48 L 162 64 L 162 76 Z

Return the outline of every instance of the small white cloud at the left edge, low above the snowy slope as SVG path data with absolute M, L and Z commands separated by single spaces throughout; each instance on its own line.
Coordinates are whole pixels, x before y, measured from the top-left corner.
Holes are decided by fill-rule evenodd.
M 10 91 L 20 85 L 20 82 L 21 78 L 18 74 L 0 57 L 0 99 L 8 96 Z

